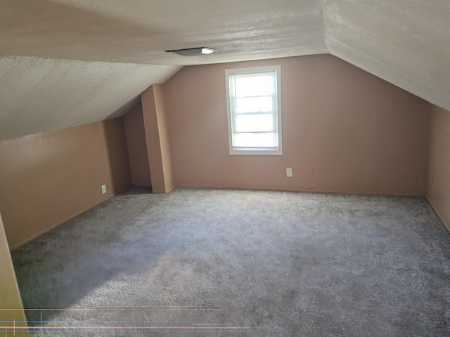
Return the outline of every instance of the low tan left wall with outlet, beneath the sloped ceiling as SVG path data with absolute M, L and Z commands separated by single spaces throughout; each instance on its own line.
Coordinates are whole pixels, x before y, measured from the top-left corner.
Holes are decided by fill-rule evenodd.
M 122 117 L 3 140 L 0 161 L 0 211 L 11 248 L 131 183 Z

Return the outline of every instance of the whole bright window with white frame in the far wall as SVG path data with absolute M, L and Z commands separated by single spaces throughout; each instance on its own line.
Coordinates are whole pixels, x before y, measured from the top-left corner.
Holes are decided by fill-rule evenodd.
M 225 70 L 230 154 L 283 154 L 279 65 Z

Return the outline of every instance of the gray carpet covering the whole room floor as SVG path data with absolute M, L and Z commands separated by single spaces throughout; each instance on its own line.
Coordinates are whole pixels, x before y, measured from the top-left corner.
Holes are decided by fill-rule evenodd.
M 45 336 L 450 336 L 420 197 L 134 189 L 12 255 Z

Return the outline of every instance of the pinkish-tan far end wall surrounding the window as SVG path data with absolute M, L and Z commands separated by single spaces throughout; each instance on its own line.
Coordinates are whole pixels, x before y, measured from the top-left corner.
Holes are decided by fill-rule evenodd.
M 224 72 L 262 65 L 281 65 L 283 155 L 229 155 Z M 184 67 L 165 95 L 176 186 L 425 194 L 430 104 L 332 55 Z

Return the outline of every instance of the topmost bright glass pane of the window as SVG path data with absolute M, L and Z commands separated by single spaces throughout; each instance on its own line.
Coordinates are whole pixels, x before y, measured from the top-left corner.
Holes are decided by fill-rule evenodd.
M 236 75 L 236 96 L 273 95 L 275 92 L 274 73 Z

